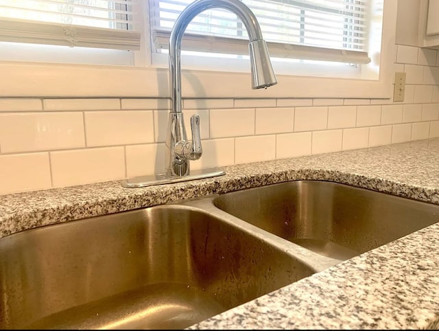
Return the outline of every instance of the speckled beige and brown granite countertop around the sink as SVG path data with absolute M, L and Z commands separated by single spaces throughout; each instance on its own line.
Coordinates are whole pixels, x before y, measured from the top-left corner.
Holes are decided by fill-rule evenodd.
M 211 179 L 121 181 L 0 196 L 0 238 L 42 225 L 299 179 L 439 205 L 439 138 L 225 167 Z M 192 326 L 193 329 L 416 329 L 439 326 L 439 223 Z

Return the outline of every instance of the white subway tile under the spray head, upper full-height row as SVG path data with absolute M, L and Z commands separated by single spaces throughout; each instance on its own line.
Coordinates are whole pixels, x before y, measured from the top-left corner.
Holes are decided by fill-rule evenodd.
M 289 133 L 294 130 L 294 108 L 256 109 L 256 134 Z

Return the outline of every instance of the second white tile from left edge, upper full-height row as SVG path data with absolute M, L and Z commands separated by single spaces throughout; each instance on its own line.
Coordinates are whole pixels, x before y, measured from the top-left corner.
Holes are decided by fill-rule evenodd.
M 85 113 L 87 146 L 142 144 L 154 141 L 152 111 Z

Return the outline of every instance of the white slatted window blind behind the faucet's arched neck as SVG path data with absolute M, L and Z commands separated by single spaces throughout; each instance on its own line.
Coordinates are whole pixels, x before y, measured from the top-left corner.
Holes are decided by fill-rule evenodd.
M 364 64 L 368 55 L 372 0 L 242 0 L 254 12 L 270 56 Z M 191 0 L 150 0 L 156 49 L 167 49 L 171 28 Z M 227 10 L 207 10 L 193 19 L 182 49 L 248 54 L 244 25 Z

